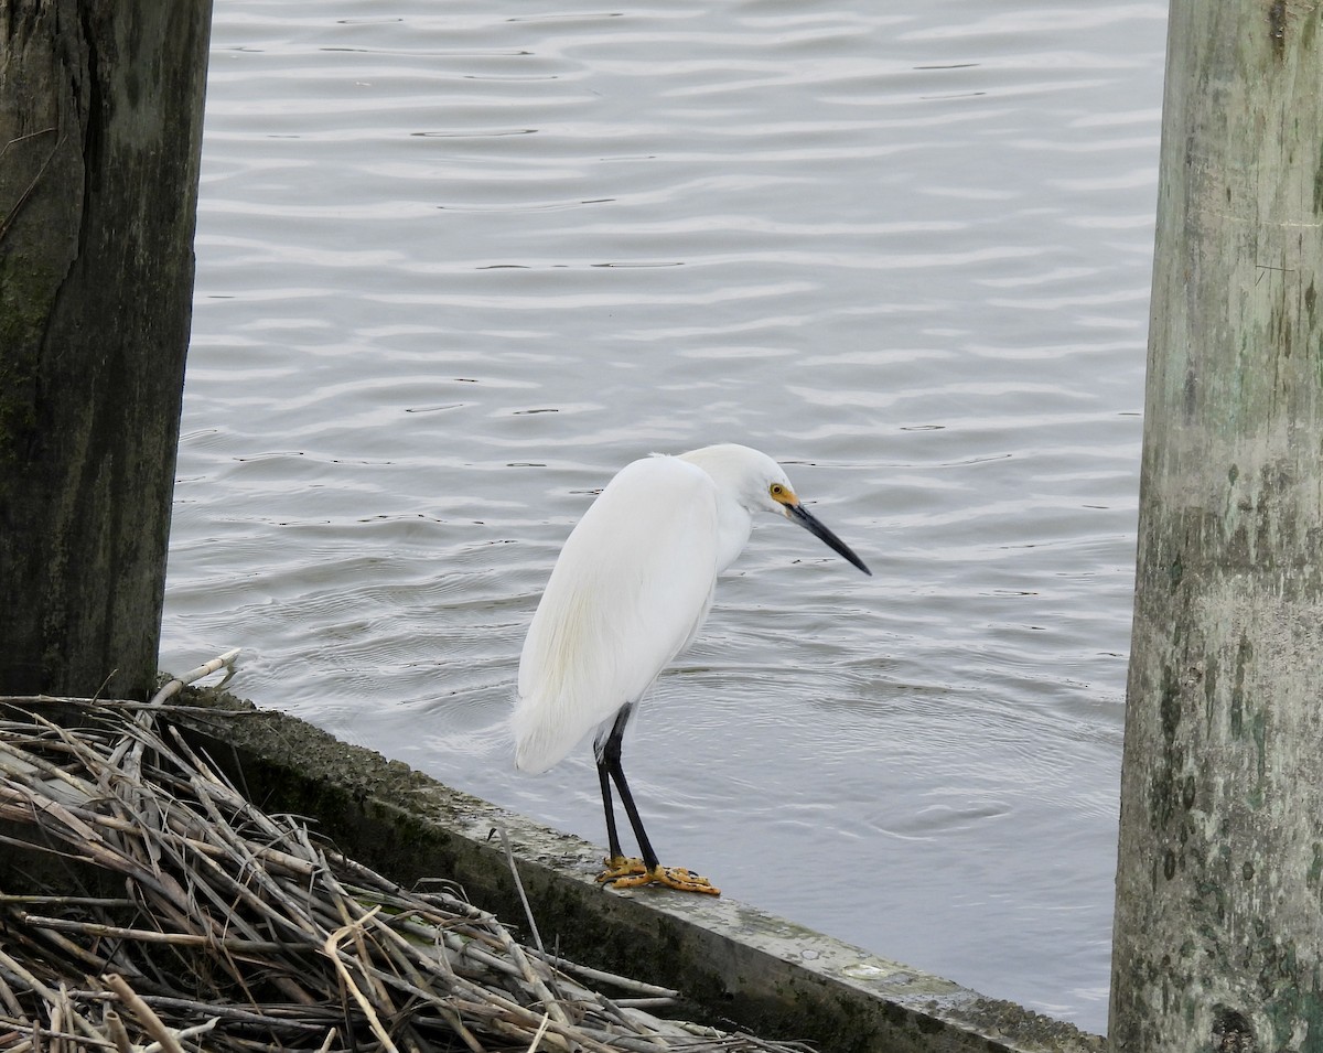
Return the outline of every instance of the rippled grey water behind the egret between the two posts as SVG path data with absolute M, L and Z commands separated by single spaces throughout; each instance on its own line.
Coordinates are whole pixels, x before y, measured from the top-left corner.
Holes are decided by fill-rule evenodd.
M 503 720 L 561 541 L 769 519 L 627 746 L 663 861 L 1106 1023 L 1164 4 L 217 0 L 180 669 L 601 840 Z

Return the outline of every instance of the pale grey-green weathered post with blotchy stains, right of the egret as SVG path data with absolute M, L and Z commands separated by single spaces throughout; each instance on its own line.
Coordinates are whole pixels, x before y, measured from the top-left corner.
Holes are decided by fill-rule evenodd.
M 1109 1040 L 1323 1050 L 1323 8 L 1168 33 Z

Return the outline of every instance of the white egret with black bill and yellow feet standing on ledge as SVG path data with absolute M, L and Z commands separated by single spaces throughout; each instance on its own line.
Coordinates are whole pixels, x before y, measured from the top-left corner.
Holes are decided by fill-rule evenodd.
M 519 663 L 515 763 L 546 771 L 597 729 L 611 852 L 598 881 L 718 893 L 705 877 L 659 865 L 620 769 L 620 741 L 644 692 L 697 634 L 717 575 L 749 541 L 754 512 L 798 523 L 872 574 L 799 503 L 775 460 L 728 443 L 622 468 L 566 538 L 546 582 Z M 642 860 L 620 851 L 613 782 Z

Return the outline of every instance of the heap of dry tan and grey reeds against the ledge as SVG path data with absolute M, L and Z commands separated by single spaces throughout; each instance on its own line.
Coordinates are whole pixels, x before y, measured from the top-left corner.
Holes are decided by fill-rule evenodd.
M 673 992 L 345 859 L 247 802 L 159 705 L 42 709 L 0 720 L 0 1049 L 791 1048 L 660 1020 Z M 37 872 L 75 894 L 37 894 Z

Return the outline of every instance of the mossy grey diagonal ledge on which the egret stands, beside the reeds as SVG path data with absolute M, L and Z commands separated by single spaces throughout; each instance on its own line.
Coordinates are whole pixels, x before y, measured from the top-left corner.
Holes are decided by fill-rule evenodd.
M 609 892 L 578 837 L 451 790 L 224 692 L 189 691 L 176 717 L 253 800 L 307 816 L 341 851 L 401 884 L 441 877 L 517 930 L 524 910 L 504 828 L 548 950 L 684 992 L 689 1016 L 839 1053 L 1098 1053 L 1103 1040 L 1020 1005 L 804 929 L 726 897 Z M 687 1009 L 691 1007 L 687 1007 Z

